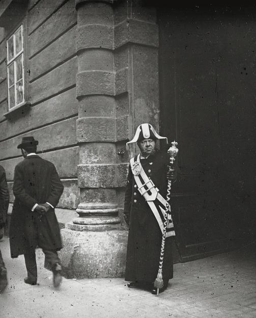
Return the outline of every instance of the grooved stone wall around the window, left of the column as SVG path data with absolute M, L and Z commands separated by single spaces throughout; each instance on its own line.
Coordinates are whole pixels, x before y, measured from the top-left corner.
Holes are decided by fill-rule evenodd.
M 62 222 L 79 203 L 75 92 L 77 12 L 74 0 L 29 1 L 24 9 L 23 15 L 10 16 L 13 21 L 10 29 L 0 29 L 0 164 L 6 169 L 11 191 L 14 167 L 23 159 L 17 145 L 23 136 L 33 135 L 39 141 L 39 155 L 55 164 L 64 183 L 58 205 L 63 209 L 59 213 Z M 32 104 L 28 110 L 17 110 L 5 117 L 8 112 L 6 40 L 21 23 L 26 37 L 25 79 Z M 70 219 L 74 215 L 73 210 Z

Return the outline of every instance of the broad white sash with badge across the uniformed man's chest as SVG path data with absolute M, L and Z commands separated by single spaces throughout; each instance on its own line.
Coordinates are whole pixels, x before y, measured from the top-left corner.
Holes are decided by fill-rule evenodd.
M 163 222 L 166 215 L 165 207 L 168 204 L 167 212 L 167 228 L 165 237 L 175 236 L 174 224 L 172 215 L 170 214 L 170 205 L 167 201 L 161 196 L 159 190 L 155 187 L 154 182 L 149 179 L 143 167 L 140 164 L 140 155 L 137 156 L 137 160 L 134 160 L 134 157 L 130 160 L 131 170 L 137 184 L 137 189 L 139 193 L 144 196 L 147 201 L 150 209 L 152 210 L 161 232 L 163 233 Z

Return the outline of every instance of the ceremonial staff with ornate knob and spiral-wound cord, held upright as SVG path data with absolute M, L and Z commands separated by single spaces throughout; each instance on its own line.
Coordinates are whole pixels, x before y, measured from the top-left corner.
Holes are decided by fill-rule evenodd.
M 167 173 L 171 172 L 172 167 L 174 166 L 174 161 L 175 161 L 176 155 L 179 151 L 179 149 L 176 147 L 177 145 L 178 145 L 178 143 L 176 141 L 173 141 L 172 146 L 167 150 L 167 153 L 169 155 L 169 165 L 168 165 Z M 167 221 L 168 221 L 167 217 L 168 217 L 168 211 L 169 211 L 169 200 L 170 200 L 171 187 L 172 187 L 172 181 L 168 179 L 159 269 L 158 269 L 157 277 L 156 277 L 155 282 L 154 282 L 154 287 L 157 288 L 156 296 L 159 295 L 159 288 L 163 287 L 162 268 L 163 268 L 164 246 L 165 246 L 166 227 L 167 227 Z

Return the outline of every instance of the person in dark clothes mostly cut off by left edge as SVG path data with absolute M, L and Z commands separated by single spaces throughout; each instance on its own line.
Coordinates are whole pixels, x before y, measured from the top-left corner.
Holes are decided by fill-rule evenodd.
M 9 206 L 9 190 L 7 187 L 5 169 L 0 166 L 0 240 L 4 236 L 4 228 L 7 222 L 7 211 Z M 7 285 L 7 270 L 0 250 L 0 292 Z

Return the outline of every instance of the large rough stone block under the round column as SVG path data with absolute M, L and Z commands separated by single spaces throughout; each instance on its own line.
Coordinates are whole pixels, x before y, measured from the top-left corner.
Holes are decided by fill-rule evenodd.
M 61 230 L 66 278 L 124 277 L 128 231 Z

